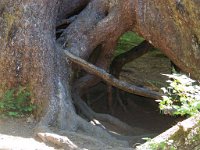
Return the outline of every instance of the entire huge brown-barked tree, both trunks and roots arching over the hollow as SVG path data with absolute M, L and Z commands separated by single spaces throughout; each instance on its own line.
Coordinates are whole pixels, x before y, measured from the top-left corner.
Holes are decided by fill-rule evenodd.
M 50 125 L 111 138 L 76 114 L 72 97 L 78 104 L 81 94 L 99 79 L 86 75 L 73 85 L 74 67 L 64 51 L 87 60 L 100 47 L 95 65 L 107 70 L 118 38 L 132 30 L 200 79 L 199 7 L 196 0 L 1 0 L 0 82 L 7 88 L 30 87 L 32 101 L 40 106 L 35 113 L 38 131 Z M 58 39 L 56 26 L 62 26 Z M 127 127 L 84 106 L 89 119 Z

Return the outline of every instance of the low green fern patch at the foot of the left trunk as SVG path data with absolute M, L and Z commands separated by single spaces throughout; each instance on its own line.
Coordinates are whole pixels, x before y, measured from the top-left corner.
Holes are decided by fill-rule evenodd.
M 9 89 L 0 98 L 0 113 L 3 116 L 22 117 L 34 109 L 36 105 L 31 103 L 30 92 L 25 87 Z

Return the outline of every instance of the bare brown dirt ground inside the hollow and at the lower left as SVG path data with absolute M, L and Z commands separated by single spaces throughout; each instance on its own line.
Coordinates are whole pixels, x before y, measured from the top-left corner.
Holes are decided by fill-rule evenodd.
M 127 64 L 123 68 L 121 79 L 134 85 L 159 90 L 160 87 L 165 85 L 166 80 L 161 73 L 170 73 L 170 66 L 170 61 L 163 54 L 156 50 L 150 51 L 136 61 Z M 90 92 L 90 106 L 96 112 L 109 113 L 105 91 L 106 86 L 101 84 Z M 97 101 L 96 97 L 99 93 L 105 94 Z M 127 93 L 122 93 L 121 96 L 128 103 L 126 106 L 127 111 L 123 111 L 116 103 L 113 107 L 113 115 L 134 128 L 143 129 L 145 133 L 140 133 L 141 135 L 146 135 L 147 133 L 158 135 L 182 119 L 160 114 L 158 105 L 154 100 Z M 36 123 L 30 117 L 23 119 L 0 119 L 0 149 L 55 149 L 34 139 L 35 125 Z M 116 127 L 108 124 L 104 125 L 110 127 L 109 130 L 118 132 Z M 124 133 L 124 135 L 127 135 L 127 133 Z M 79 138 L 74 138 L 73 142 L 78 147 L 86 149 L 123 149 L 112 146 L 105 147 L 101 143 L 87 142 Z

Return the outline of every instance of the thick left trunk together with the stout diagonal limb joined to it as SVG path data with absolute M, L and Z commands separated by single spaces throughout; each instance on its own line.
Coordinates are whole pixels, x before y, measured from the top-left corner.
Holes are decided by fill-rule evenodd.
M 106 139 L 115 138 L 107 131 L 94 127 L 76 114 L 71 97 L 72 67 L 71 63 L 66 61 L 62 48 L 83 59 L 87 59 L 99 45 L 113 50 L 114 45 L 110 47 L 109 42 L 115 44 L 132 22 L 131 19 L 122 21 L 130 17 L 129 13 L 125 15 L 123 11 L 128 8 L 128 3 L 92 1 L 56 42 L 56 21 L 59 22 L 63 16 L 77 14 L 87 2 L 0 2 L 0 81 L 6 85 L 1 90 L 3 92 L 20 85 L 29 87 L 32 102 L 38 106 L 35 113 L 35 117 L 39 119 L 37 132 L 49 131 L 48 126 L 67 131 L 83 130 L 112 145 L 113 141 Z M 114 7 L 118 3 L 120 7 Z M 63 7 L 69 11 L 66 12 Z M 107 11 L 111 12 L 108 17 Z M 120 28 L 117 28 L 118 25 Z M 108 26 L 106 31 L 105 26 Z M 112 55 L 109 52 L 105 56 L 108 61 L 111 60 Z M 103 58 L 102 61 L 104 60 Z M 99 64 L 104 65 L 101 65 L 101 62 Z M 108 66 L 109 63 L 105 67 Z M 123 125 L 115 118 L 106 115 L 107 118 Z M 126 142 L 116 141 L 118 144 L 127 145 Z

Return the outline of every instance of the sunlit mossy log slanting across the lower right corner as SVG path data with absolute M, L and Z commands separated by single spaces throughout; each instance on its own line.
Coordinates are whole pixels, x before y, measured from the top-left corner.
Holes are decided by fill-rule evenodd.
M 171 144 L 170 144 L 171 143 Z M 200 148 L 200 113 L 190 117 L 138 146 L 137 150 L 151 149 L 152 146 L 165 145 L 166 148 L 198 150 Z

